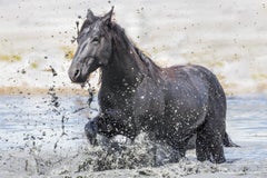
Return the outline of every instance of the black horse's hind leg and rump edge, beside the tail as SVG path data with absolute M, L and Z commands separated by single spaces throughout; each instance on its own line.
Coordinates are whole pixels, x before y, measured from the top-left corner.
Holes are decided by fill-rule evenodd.
M 226 130 L 226 97 L 214 76 L 209 76 L 210 93 L 205 122 L 197 130 L 196 150 L 200 161 L 225 162 L 224 137 Z

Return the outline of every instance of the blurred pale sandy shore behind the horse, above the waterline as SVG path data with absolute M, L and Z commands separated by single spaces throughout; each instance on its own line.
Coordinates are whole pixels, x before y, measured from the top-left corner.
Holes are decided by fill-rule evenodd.
M 201 65 L 228 96 L 267 95 L 266 0 L 0 0 L 0 92 L 79 89 L 67 75 L 76 21 L 111 6 L 116 22 L 159 66 Z

